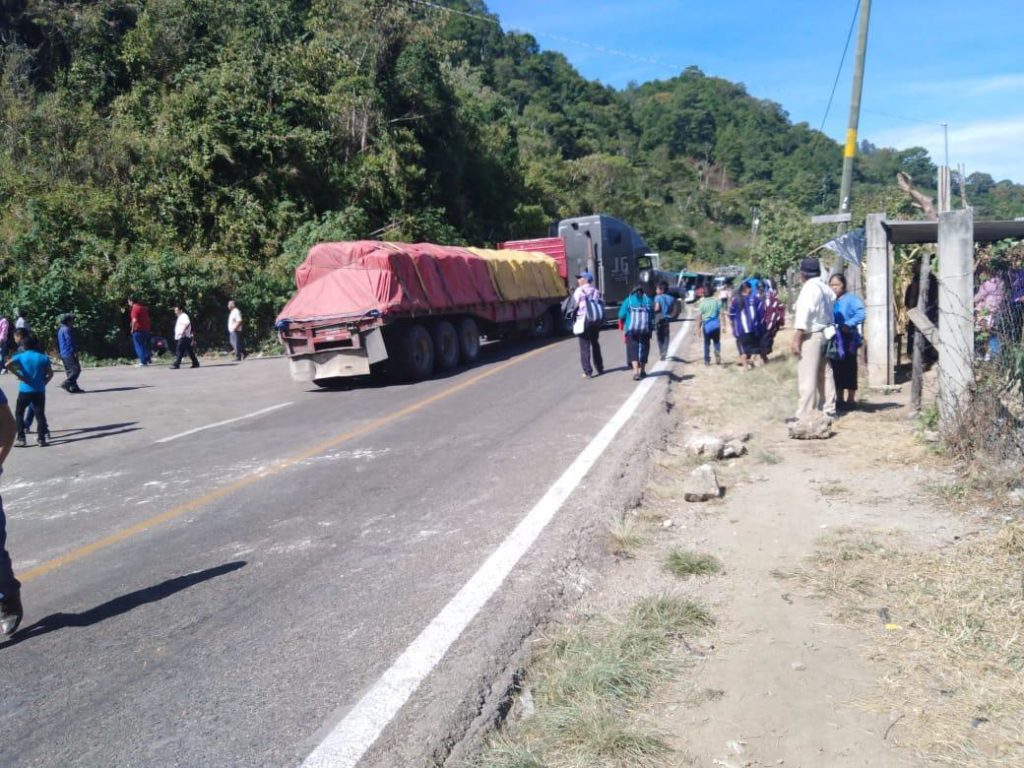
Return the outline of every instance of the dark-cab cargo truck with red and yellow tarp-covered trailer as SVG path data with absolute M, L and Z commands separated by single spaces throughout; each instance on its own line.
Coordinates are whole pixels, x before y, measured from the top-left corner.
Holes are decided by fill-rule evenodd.
M 593 272 L 614 306 L 651 279 L 646 250 L 610 216 L 566 219 L 557 237 L 498 251 L 325 243 L 296 268 L 297 290 L 276 328 L 297 381 L 333 386 L 385 370 L 419 381 L 473 364 L 481 336 L 550 336 L 563 325 L 561 302 L 579 272 Z

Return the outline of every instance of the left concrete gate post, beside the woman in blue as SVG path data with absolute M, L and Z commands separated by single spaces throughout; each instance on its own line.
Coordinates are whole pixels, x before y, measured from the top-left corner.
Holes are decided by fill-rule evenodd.
M 893 259 L 883 213 L 869 213 L 865 261 L 864 335 L 867 341 L 867 386 L 888 387 L 896 382 L 893 354 Z

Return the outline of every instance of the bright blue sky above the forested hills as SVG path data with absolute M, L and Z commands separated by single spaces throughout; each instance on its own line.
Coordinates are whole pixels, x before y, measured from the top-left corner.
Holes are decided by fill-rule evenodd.
M 695 65 L 821 126 L 856 0 L 487 0 L 585 76 L 615 87 Z M 876 0 L 859 136 L 1024 183 L 1024 0 Z M 824 131 L 841 140 L 856 30 Z M 605 51 L 600 48 L 606 49 Z M 652 60 L 642 60 L 652 59 Z

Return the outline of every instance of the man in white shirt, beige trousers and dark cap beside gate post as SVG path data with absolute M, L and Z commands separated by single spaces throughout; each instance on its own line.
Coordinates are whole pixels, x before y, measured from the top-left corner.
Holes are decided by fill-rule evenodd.
M 836 382 L 824 355 L 825 341 L 836 335 L 834 304 L 836 294 L 821 279 L 817 259 L 800 262 L 804 285 L 797 298 L 797 329 L 791 351 L 800 358 L 797 382 L 800 398 L 797 419 L 809 417 L 819 407 L 825 416 L 836 416 Z

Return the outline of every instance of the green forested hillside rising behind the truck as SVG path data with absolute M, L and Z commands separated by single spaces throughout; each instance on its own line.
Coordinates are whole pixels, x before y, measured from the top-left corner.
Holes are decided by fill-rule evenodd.
M 410 0 L 5 2 L 0 310 L 75 311 L 112 353 L 129 292 L 218 334 L 231 296 L 265 333 L 318 240 L 482 245 L 604 212 L 672 263 L 721 263 L 758 257 L 755 211 L 770 229 L 836 207 L 840 146 L 779 104 L 696 68 L 616 91 L 482 2 L 441 4 L 492 20 Z M 858 201 L 934 175 L 923 150 L 864 148 Z M 980 215 L 1019 215 L 1022 187 L 970 181 Z

